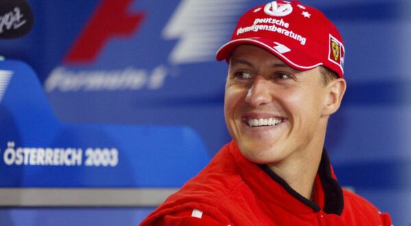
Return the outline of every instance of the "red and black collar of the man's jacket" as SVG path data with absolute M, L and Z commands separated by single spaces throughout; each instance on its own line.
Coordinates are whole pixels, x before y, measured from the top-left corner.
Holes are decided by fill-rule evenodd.
M 323 149 L 319 170 L 314 181 L 314 201 L 306 199 L 292 189 L 282 177 L 276 175 L 268 166 L 253 164 L 244 158 L 234 141 L 230 144 L 229 149 L 241 166 L 239 170 L 243 179 L 247 181 L 249 186 L 253 186 L 253 190 L 263 195 L 264 199 L 268 199 L 267 201 L 272 201 L 297 214 L 323 210 L 327 214 L 340 216 L 343 212 L 343 190 L 336 180 L 325 149 Z M 266 190 L 269 190 L 270 194 L 266 194 Z

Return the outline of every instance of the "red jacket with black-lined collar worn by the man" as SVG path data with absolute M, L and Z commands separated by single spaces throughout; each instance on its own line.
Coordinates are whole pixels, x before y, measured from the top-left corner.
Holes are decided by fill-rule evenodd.
M 268 167 L 249 162 L 230 142 L 141 226 L 391 225 L 388 214 L 341 189 L 334 178 L 323 151 L 310 201 Z

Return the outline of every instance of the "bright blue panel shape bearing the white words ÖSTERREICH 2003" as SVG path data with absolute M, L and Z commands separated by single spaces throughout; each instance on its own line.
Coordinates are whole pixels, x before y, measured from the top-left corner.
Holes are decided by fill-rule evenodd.
M 0 62 L 11 71 L 0 105 L 0 187 L 179 187 L 205 166 L 210 156 L 188 127 L 76 125 L 53 114 L 36 74 L 23 62 Z M 75 111 L 75 109 L 73 109 Z M 8 142 L 22 148 L 82 149 L 82 164 L 5 164 Z M 115 166 L 86 166 L 86 150 L 116 149 Z M 31 164 L 34 163 L 34 164 Z

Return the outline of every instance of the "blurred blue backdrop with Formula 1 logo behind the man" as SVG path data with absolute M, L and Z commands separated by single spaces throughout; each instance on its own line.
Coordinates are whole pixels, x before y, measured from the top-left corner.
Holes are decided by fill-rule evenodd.
M 29 3 L 32 32 L 0 40 L 0 55 L 34 68 L 62 121 L 191 127 L 210 155 L 230 140 L 227 66 L 214 53 L 241 12 L 266 1 Z M 345 40 L 348 89 L 326 143 L 337 177 L 395 225 L 410 225 L 411 3 L 303 3 L 325 12 Z

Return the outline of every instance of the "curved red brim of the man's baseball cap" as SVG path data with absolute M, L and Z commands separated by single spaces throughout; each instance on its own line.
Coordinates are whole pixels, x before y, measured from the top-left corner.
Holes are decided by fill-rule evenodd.
M 319 60 L 312 59 L 308 56 L 303 56 L 301 53 L 293 53 L 293 55 L 296 55 L 297 58 L 291 60 L 267 43 L 273 43 L 273 40 L 266 40 L 264 38 L 240 38 L 232 40 L 230 42 L 227 42 L 216 52 L 216 60 L 228 60 L 232 52 L 240 45 L 256 45 L 258 47 L 261 47 L 262 49 L 265 49 L 266 51 L 269 51 L 270 53 L 273 53 L 275 56 L 277 56 L 277 58 L 288 64 L 288 66 L 299 71 L 308 71 L 312 68 L 323 65 L 323 63 Z M 297 50 L 293 51 L 296 52 Z

